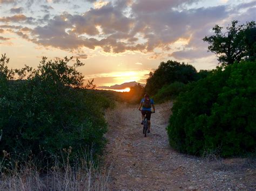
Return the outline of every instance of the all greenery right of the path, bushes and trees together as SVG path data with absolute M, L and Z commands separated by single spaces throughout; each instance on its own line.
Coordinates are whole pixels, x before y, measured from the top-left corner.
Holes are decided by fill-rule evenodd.
M 220 66 L 200 70 L 176 61 L 161 62 L 145 90 L 156 102 L 174 100 L 167 132 L 176 150 L 231 157 L 256 151 L 255 22 L 213 27 L 210 44 Z M 156 90 L 153 88 L 157 87 Z

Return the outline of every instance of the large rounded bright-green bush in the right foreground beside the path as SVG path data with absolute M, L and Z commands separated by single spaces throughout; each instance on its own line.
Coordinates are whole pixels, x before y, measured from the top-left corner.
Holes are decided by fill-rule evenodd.
M 217 68 L 187 84 L 173 105 L 167 127 L 170 145 L 201 155 L 223 157 L 253 152 L 256 146 L 256 62 Z

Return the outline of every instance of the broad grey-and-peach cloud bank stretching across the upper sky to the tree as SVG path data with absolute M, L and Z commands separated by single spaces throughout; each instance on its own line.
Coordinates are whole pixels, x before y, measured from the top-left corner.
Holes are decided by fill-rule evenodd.
M 39 2 L 28 1 L 30 4 Z M 48 2 L 68 3 L 69 1 Z M 188 5 L 197 1 L 83 0 L 83 2 L 94 3 L 96 6 L 80 14 L 62 12 L 53 16 L 49 14 L 49 10 L 53 9 L 52 6 L 43 4 L 38 6 L 48 14 L 41 18 L 35 19 L 19 14 L 1 17 L 0 21 L 21 25 L 37 24 L 36 27 L 27 28 L 24 26 L 15 28 L 13 25 L 5 25 L 5 27 L 15 30 L 16 34 L 35 44 L 69 52 L 79 53 L 84 51 L 84 47 L 90 49 L 100 47 L 102 48 L 100 51 L 105 53 L 126 51 L 148 53 L 149 59 L 165 59 L 170 55 L 177 59 L 192 59 L 207 56 L 207 44 L 202 39 L 211 33 L 210 29 L 215 24 L 230 23 L 231 19 L 241 19 L 241 22 L 245 22 L 246 19 L 253 19 L 256 9 L 253 2 L 193 9 Z M 72 7 L 71 1 L 69 5 Z M 178 44 L 179 39 L 186 39 L 186 42 Z M 87 58 L 86 56 L 84 55 L 84 58 Z

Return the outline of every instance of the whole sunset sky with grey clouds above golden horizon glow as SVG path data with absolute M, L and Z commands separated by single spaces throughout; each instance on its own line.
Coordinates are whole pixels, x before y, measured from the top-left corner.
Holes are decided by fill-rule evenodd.
M 213 69 L 202 39 L 212 28 L 256 20 L 252 0 L 0 0 L 0 52 L 10 68 L 73 56 L 97 86 L 145 83 L 160 62 Z

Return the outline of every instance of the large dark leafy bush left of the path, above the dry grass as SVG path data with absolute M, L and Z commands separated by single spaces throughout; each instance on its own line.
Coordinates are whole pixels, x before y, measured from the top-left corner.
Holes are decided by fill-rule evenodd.
M 105 143 L 103 109 L 111 105 L 104 96 L 83 88 L 84 64 L 72 58 L 47 61 L 37 69 L 10 70 L 5 56 L 0 62 L 0 150 L 11 153 L 44 153 L 48 159 L 72 147 L 70 157 Z M 18 80 L 14 80 L 15 76 Z M 23 78 L 26 76 L 26 79 Z

